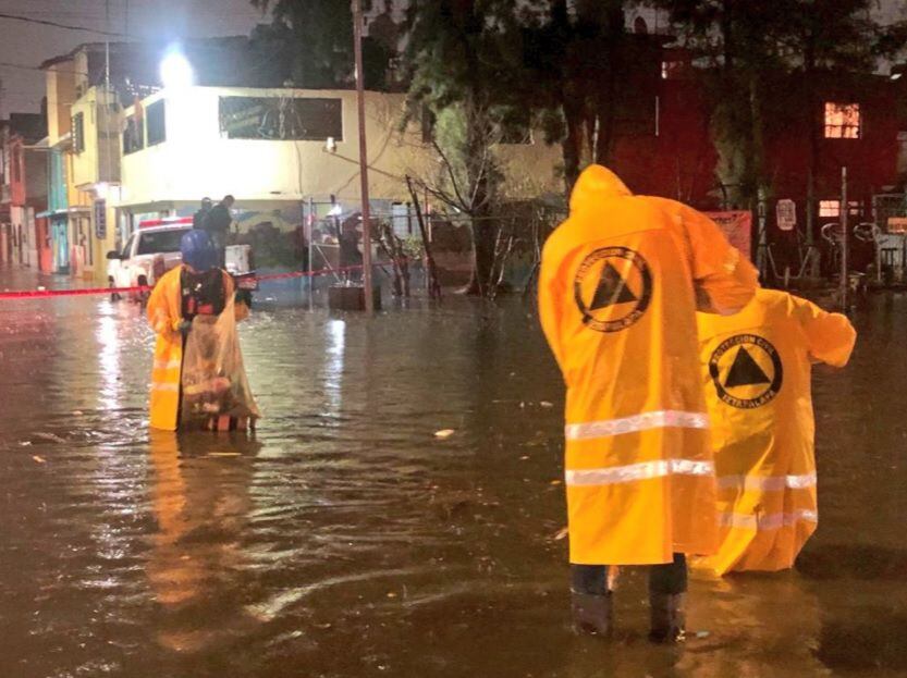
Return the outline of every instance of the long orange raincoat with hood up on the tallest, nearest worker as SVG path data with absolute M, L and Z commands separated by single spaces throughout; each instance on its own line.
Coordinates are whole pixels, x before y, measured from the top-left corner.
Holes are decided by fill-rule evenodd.
M 633 196 L 603 167 L 583 172 L 539 276 L 542 329 L 567 387 L 571 563 L 714 551 L 697 297 L 734 312 L 757 287 L 755 269 L 703 214 Z

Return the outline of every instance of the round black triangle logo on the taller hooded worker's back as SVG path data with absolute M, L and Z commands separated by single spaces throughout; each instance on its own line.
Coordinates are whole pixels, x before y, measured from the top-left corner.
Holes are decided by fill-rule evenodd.
M 579 264 L 573 294 L 588 328 L 618 332 L 649 308 L 652 274 L 639 252 L 627 247 L 601 247 Z

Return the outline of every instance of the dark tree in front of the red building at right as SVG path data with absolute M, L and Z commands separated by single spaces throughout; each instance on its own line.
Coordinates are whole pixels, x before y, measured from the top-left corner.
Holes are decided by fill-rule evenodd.
M 822 130 L 819 88 L 857 82 L 875 58 L 904 46 L 903 26 L 883 30 L 872 0 L 659 0 L 685 44 L 711 66 L 718 178 L 727 202 L 755 207 L 768 193 L 765 136 L 783 120 L 809 137 L 807 241 L 813 236 Z M 777 86 L 785 97 L 769 97 Z M 781 123 L 784 124 L 784 123 Z

